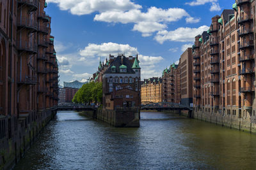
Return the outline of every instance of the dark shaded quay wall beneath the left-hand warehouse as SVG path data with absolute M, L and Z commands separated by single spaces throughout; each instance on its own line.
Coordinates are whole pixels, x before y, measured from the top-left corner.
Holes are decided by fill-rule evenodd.
M 8 135 L 0 139 L 0 169 L 13 169 L 56 112 L 51 109 L 44 110 L 38 112 L 40 116 L 33 117 L 33 114 L 29 114 L 29 117 L 23 118 L 24 120 L 17 117 L 0 118 L 2 127 L 7 122 L 13 122 L 12 127 L 8 127 L 8 131 L 12 132 L 8 132 Z

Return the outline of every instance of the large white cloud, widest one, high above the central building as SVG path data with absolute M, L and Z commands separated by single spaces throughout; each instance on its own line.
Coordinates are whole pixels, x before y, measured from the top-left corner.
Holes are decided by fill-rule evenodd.
M 151 36 L 153 32 L 162 31 L 167 24 L 186 17 L 187 23 L 196 23 L 200 18 L 191 17 L 182 8 L 168 8 L 167 10 L 151 7 L 146 13 L 140 10 L 106 11 L 95 15 L 94 20 L 113 23 L 134 23 L 132 31 L 139 31 L 142 36 Z

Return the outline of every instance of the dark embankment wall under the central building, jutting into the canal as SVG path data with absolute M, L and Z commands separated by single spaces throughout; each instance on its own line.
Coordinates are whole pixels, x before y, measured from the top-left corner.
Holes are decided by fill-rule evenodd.
M 106 122 L 113 127 L 140 127 L 140 110 L 138 108 L 84 112 L 88 117 Z

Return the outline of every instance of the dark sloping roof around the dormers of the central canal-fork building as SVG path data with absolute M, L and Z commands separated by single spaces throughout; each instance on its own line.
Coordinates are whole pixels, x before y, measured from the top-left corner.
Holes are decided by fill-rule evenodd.
M 122 57 L 124 57 L 123 63 L 122 63 Z M 135 71 L 132 70 L 131 61 L 129 61 L 129 59 L 127 59 L 127 57 L 122 56 L 122 55 L 118 55 L 117 57 L 115 57 L 113 62 L 111 62 L 110 66 L 108 66 L 108 68 L 106 69 L 106 71 L 104 73 L 112 73 L 111 67 L 113 67 L 113 66 L 116 67 L 115 73 L 120 73 L 120 66 L 122 66 L 122 65 L 127 67 L 126 73 L 130 73 L 130 74 L 135 73 Z

